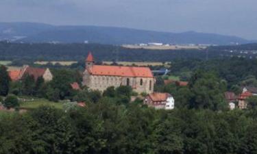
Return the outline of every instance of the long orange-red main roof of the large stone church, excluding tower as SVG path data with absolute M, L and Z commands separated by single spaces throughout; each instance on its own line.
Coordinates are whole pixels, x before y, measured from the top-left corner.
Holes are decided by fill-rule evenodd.
M 94 65 L 88 68 L 88 73 L 91 75 L 106 75 L 120 77 L 154 77 L 148 67 L 134 66 L 103 66 Z

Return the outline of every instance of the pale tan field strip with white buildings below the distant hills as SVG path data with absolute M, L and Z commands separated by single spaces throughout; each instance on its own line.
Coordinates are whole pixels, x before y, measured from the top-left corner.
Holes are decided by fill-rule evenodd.
M 128 48 L 128 49 L 151 49 L 151 50 L 206 49 L 205 46 L 191 46 L 191 45 L 140 46 L 140 45 L 134 45 L 134 44 L 125 44 L 122 47 Z

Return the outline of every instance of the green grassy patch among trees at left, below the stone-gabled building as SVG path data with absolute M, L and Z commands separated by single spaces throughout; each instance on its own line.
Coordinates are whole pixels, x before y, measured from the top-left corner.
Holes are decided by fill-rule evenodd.
M 21 103 L 21 108 L 25 110 L 32 110 L 40 107 L 41 105 L 50 105 L 58 109 L 62 109 L 62 103 L 55 103 L 52 101 L 47 101 L 46 99 L 39 99 L 36 101 L 27 101 L 25 103 Z

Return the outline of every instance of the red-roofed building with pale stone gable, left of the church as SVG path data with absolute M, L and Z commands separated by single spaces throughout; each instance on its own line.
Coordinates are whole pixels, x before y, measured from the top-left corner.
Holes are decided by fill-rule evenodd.
M 35 80 L 37 80 L 38 77 L 42 77 L 45 81 L 51 81 L 53 79 L 49 68 L 34 68 L 27 65 L 19 70 L 10 70 L 8 73 L 12 81 L 19 81 L 23 79 L 25 75 L 31 75 Z

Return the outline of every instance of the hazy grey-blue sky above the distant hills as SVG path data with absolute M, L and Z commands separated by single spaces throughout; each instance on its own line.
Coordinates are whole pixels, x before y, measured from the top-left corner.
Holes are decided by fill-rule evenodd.
M 257 40 L 257 0 L 0 0 L 0 22 L 198 31 Z

